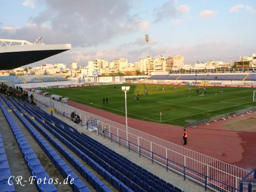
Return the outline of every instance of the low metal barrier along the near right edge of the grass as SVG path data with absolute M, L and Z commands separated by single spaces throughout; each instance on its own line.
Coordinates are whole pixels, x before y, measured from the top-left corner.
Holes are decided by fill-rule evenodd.
M 189 122 L 186 125 L 184 125 L 184 128 L 196 127 L 197 125 L 202 125 L 202 124 L 206 124 L 206 123 L 209 123 L 209 122 L 218 121 L 220 119 L 231 118 L 232 116 L 237 116 L 237 115 L 241 115 L 243 113 L 249 113 L 249 112 L 252 112 L 252 111 L 256 111 L 256 107 L 241 109 L 239 111 L 233 111 L 233 112 L 225 113 L 225 114 L 222 114 L 222 115 L 212 116 L 210 118 L 201 119 L 201 120 L 198 120 L 198 121 L 195 121 L 195 122 Z

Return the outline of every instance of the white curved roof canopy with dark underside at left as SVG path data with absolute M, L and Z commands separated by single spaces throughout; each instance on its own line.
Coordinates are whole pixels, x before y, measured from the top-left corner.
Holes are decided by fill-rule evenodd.
M 43 44 L 42 38 L 35 43 L 26 40 L 0 39 L 0 70 L 10 70 L 41 61 L 52 55 L 71 49 L 71 44 Z

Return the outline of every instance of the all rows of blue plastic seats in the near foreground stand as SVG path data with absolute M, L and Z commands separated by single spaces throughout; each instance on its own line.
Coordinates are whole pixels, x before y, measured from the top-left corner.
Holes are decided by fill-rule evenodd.
M 90 191 L 80 179 L 82 177 L 97 192 L 110 192 L 111 189 L 108 186 L 113 186 L 114 190 L 120 192 L 182 192 L 181 189 L 171 183 L 167 183 L 157 175 L 148 172 L 86 134 L 77 131 L 76 128 L 55 116 L 42 111 L 27 100 L 15 95 L 10 98 L 2 95 L 0 97 L 8 106 L 5 106 L 0 100 L 1 109 L 9 122 L 31 175 L 36 175 L 37 178 L 47 177 L 49 179 L 49 175 L 47 175 L 44 167 L 33 152 L 29 141 L 26 140 L 19 126 L 10 115 L 8 108 L 26 127 L 62 177 L 66 178 L 67 175 L 71 175 L 69 178 L 75 179 L 71 185 L 74 192 Z M 96 123 L 94 119 L 90 119 L 90 121 Z M 0 143 L 0 157 L 2 157 L 3 153 L 1 148 L 3 148 L 3 144 L 1 145 Z M 65 163 L 64 159 L 70 163 L 70 166 Z M 2 158 L 0 162 L 1 160 Z M 6 158 L 3 161 L 8 164 Z M 4 170 L 6 170 L 6 172 L 0 174 L 0 189 L 2 189 L 1 178 L 4 177 L 6 181 L 6 178 L 9 178 L 11 174 L 6 163 L 3 165 L 0 163 L 0 173 L 2 171 L 1 166 L 5 166 Z M 91 167 L 92 171 L 87 167 Z M 79 177 L 73 170 L 80 174 Z M 103 177 L 105 180 L 99 180 L 96 175 Z M 13 186 L 5 187 L 10 187 L 6 191 L 11 191 Z M 37 185 L 37 189 L 38 191 L 57 191 L 53 184 Z

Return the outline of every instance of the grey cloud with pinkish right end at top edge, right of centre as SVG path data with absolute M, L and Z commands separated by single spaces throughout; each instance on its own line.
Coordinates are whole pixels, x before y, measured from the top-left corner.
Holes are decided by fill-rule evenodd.
M 155 20 L 154 22 L 159 22 L 163 19 L 168 19 L 175 17 L 176 15 L 183 15 L 186 12 L 189 12 L 190 7 L 187 4 L 175 7 L 176 1 L 169 0 L 163 3 L 162 6 L 155 8 Z

